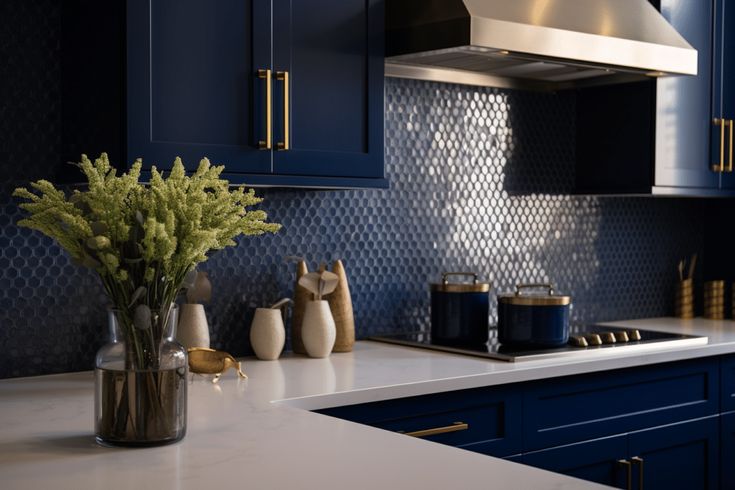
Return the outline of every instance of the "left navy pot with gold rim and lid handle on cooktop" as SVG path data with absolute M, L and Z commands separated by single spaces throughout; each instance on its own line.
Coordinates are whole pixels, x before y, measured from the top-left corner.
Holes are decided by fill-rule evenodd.
M 449 282 L 449 276 L 472 276 L 471 283 Z M 478 282 L 474 272 L 445 272 L 431 284 L 431 341 L 475 345 L 488 340 L 490 283 Z

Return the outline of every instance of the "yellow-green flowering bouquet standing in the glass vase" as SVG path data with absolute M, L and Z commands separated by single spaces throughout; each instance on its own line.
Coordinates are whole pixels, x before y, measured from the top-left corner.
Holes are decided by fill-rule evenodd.
M 266 213 L 247 208 L 261 198 L 230 189 L 224 167 L 209 160 L 187 176 L 180 159 L 166 178 L 155 167 L 149 185 L 139 182 L 141 162 L 122 175 L 106 154 L 78 164 L 89 182 L 67 196 L 48 181 L 18 188 L 29 213 L 20 226 L 55 239 L 73 261 L 94 269 L 118 315 L 128 344 L 128 369 L 156 369 L 163 321 L 187 277 L 212 251 L 235 245 L 240 234 L 280 229 Z M 152 320 L 153 318 L 153 320 Z

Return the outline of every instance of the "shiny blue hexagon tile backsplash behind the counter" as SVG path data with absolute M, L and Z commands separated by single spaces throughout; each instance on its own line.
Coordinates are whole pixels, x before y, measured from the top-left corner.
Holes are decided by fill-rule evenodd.
M 674 265 L 703 249 L 704 204 L 565 195 L 573 96 L 387 79 L 385 108 L 389 190 L 261 190 L 283 230 L 204 264 L 213 347 L 251 352 L 253 309 L 292 293 L 285 257 L 297 255 L 311 267 L 343 259 L 358 338 L 427 328 L 428 284 L 443 270 L 477 271 L 493 294 L 551 281 L 572 295 L 575 322 L 670 313 Z M 10 187 L 0 195 L 0 377 L 88 369 L 106 337 L 101 287 L 15 226 Z

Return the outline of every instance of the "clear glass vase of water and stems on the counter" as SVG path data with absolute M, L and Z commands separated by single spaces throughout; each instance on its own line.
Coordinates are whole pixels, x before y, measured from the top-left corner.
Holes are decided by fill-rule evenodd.
M 186 434 L 186 350 L 176 342 L 178 307 L 134 325 L 134 312 L 110 310 L 111 342 L 95 362 L 95 437 L 112 446 L 156 446 Z

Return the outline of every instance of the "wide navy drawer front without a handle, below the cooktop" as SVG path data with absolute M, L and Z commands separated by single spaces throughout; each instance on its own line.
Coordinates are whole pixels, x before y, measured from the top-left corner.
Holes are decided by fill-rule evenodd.
M 712 415 L 719 389 L 717 359 L 534 383 L 524 394 L 524 450 Z

